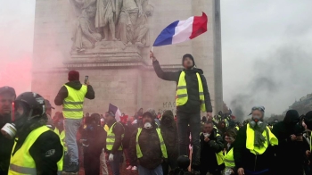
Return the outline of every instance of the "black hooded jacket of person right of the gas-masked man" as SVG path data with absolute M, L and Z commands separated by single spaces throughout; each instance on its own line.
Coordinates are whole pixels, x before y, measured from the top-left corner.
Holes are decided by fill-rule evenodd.
M 302 136 L 302 130 L 297 124 L 299 120 L 298 112 L 290 110 L 286 113 L 283 121 L 276 123 L 272 129 L 272 133 L 278 139 L 275 154 L 280 165 L 279 169 L 291 166 L 291 171 L 296 171 L 295 169 L 298 171 L 304 162 L 305 143 L 303 141 L 291 141 L 291 135 Z M 286 169 L 286 172 L 290 172 L 290 170 Z

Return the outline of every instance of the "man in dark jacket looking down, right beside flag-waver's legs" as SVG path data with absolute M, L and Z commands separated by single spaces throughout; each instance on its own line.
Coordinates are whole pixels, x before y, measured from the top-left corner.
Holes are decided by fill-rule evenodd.
M 213 175 L 221 175 L 225 169 L 223 162 L 224 142 L 221 135 L 213 129 L 213 122 L 207 121 L 204 125 L 201 139 L 201 175 L 209 171 Z

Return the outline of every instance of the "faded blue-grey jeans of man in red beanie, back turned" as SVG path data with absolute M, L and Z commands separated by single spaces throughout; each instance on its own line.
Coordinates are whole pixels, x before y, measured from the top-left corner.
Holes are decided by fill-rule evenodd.
M 78 164 L 77 132 L 82 119 L 64 119 L 65 143 L 70 155 L 70 163 Z

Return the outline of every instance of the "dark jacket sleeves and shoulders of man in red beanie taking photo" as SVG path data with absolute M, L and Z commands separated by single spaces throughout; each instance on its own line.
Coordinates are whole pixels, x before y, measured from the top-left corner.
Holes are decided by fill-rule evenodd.
M 66 85 L 69 87 L 72 87 L 76 90 L 79 90 L 82 87 L 82 84 L 78 80 L 70 81 L 70 82 L 66 83 Z M 91 85 L 88 85 L 87 91 L 86 91 L 86 98 L 92 100 L 95 97 L 94 94 L 95 94 L 94 88 Z M 69 96 L 69 91 L 67 90 L 67 88 L 65 86 L 62 86 L 59 93 L 57 94 L 57 96 L 55 96 L 55 99 L 54 99 L 55 105 L 62 105 L 64 99 L 67 96 Z

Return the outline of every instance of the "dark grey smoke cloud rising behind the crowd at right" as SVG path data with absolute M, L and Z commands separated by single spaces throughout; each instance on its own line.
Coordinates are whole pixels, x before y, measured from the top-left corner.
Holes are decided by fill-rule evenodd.
M 250 108 L 264 105 L 267 116 L 287 110 L 294 99 L 312 93 L 310 80 L 312 53 L 300 45 L 276 48 L 259 57 L 251 66 L 245 87 L 233 94 L 230 108 L 239 121 L 247 118 Z

